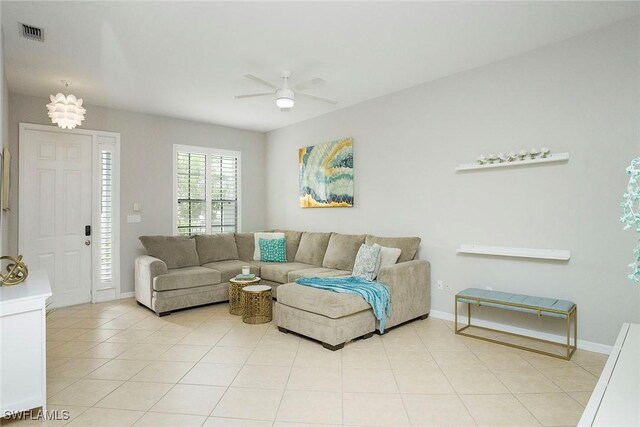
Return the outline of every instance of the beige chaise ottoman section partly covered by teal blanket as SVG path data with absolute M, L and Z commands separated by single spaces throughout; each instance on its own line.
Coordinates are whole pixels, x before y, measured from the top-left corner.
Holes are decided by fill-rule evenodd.
M 287 283 L 278 287 L 275 320 L 280 332 L 296 332 L 339 350 L 355 338 L 369 338 L 376 329 L 371 306 L 359 295 Z

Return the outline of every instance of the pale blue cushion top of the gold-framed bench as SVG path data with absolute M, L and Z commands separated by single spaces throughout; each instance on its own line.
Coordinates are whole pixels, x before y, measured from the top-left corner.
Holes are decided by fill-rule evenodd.
M 555 299 L 555 298 L 541 298 L 541 297 L 532 297 L 529 295 L 520 295 L 520 294 L 511 294 L 509 292 L 499 292 L 499 291 L 489 291 L 486 289 L 478 289 L 478 288 L 467 288 L 464 291 L 458 292 L 458 301 L 466 302 L 470 304 L 476 304 L 475 299 L 466 299 L 464 297 L 471 298 L 484 298 L 490 299 L 493 301 L 500 302 L 508 302 L 512 304 L 523 304 L 531 307 L 536 307 L 540 309 L 551 309 L 551 310 L 559 310 L 564 312 L 569 312 L 575 304 L 571 301 Z M 487 307 L 497 307 L 505 310 L 513 310 L 513 311 L 522 311 L 524 313 L 535 313 L 538 314 L 538 310 L 532 308 L 524 308 L 524 307 L 514 307 L 510 305 L 502 305 L 491 302 L 480 302 L 480 305 Z M 540 311 L 540 314 L 543 316 L 551 316 L 551 317 L 562 317 L 566 318 L 565 314 L 561 313 L 553 313 L 550 311 Z

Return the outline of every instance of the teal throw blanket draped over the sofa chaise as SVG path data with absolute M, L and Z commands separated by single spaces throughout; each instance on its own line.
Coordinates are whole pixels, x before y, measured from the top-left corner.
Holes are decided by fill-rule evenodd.
M 360 295 L 371 305 L 373 314 L 380 322 L 380 333 L 384 333 L 387 317 L 391 316 L 391 293 L 389 287 L 362 277 L 301 277 L 296 283 L 333 292 Z

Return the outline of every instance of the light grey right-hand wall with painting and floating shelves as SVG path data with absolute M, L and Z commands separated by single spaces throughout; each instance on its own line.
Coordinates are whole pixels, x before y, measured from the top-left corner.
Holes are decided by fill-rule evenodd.
M 618 222 L 624 171 L 640 149 L 639 34 L 638 19 L 623 21 L 268 133 L 267 225 L 420 236 L 433 310 L 452 313 L 456 291 L 487 285 L 565 298 L 578 304 L 581 339 L 612 344 L 622 322 L 640 321 L 640 287 L 626 278 L 635 237 Z M 354 139 L 355 206 L 299 208 L 297 149 L 342 137 Z M 541 146 L 571 159 L 453 171 L 482 153 Z M 456 255 L 461 243 L 572 257 Z M 483 314 L 563 331 L 549 319 Z

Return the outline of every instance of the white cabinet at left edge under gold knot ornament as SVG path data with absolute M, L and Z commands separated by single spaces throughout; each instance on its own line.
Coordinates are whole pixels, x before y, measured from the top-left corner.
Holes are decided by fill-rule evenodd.
M 45 303 L 51 296 L 44 271 L 24 283 L 0 287 L 0 413 L 46 410 Z

